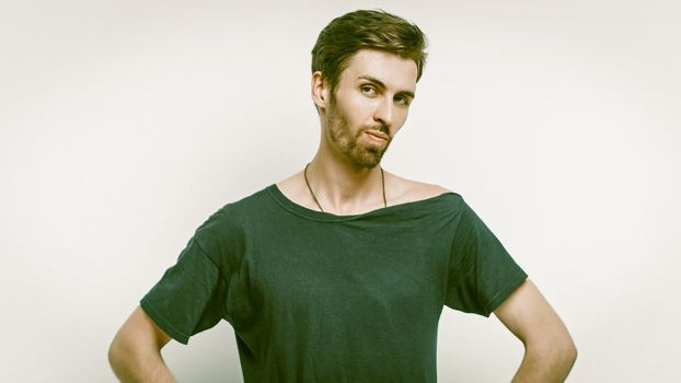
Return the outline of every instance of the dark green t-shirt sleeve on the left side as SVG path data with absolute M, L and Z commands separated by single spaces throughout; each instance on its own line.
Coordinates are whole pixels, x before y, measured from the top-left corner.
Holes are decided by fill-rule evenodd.
M 177 263 L 140 301 L 159 327 L 185 345 L 191 336 L 228 318 L 229 267 L 219 262 L 224 258 L 219 254 L 224 246 L 215 235 L 216 216 L 196 231 Z

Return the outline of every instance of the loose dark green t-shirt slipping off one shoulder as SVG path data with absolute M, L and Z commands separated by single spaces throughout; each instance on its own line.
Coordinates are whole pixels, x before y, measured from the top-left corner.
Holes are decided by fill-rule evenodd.
M 227 320 L 246 383 L 436 382 L 442 306 L 488 316 L 526 278 L 458 194 L 334 216 L 273 185 L 212 214 L 141 306 L 183 344 Z

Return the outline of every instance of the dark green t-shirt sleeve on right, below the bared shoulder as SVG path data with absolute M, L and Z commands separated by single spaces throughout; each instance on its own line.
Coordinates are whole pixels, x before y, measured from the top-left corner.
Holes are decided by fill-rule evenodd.
M 489 316 L 528 276 L 468 204 L 460 204 L 445 303 Z

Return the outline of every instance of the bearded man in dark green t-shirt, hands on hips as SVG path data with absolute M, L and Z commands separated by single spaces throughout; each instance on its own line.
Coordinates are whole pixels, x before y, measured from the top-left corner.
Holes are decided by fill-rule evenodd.
M 417 26 L 380 11 L 322 31 L 315 156 L 196 231 L 112 343 L 122 381 L 173 381 L 161 348 L 224 318 L 245 382 L 435 382 L 443 305 L 494 312 L 523 343 L 515 381 L 567 376 L 567 329 L 461 196 L 380 166 L 425 45 Z

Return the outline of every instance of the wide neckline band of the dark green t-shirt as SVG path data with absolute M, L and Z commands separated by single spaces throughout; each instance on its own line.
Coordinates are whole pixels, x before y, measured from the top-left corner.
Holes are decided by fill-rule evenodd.
M 359 213 L 359 214 L 338 216 L 338 214 L 334 214 L 334 213 L 326 212 L 326 211 L 313 210 L 313 209 L 307 208 L 302 205 L 299 205 L 292 201 L 284 193 L 281 193 L 277 184 L 269 185 L 266 188 L 266 190 L 279 205 L 281 205 L 281 207 L 293 212 L 295 214 L 301 216 L 308 219 L 316 220 L 316 221 L 330 221 L 330 222 L 350 221 L 350 220 L 356 220 L 360 218 L 367 218 L 367 217 L 372 217 L 372 216 L 379 216 L 382 213 L 400 211 L 403 209 L 411 209 L 411 208 L 417 207 L 418 205 L 431 204 L 434 201 L 439 201 L 440 199 L 445 199 L 448 196 L 457 195 L 453 192 L 446 192 L 437 196 L 418 199 L 414 201 L 408 201 L 408 202 L 402 202 L 397 205 L 390 205 L 388 207 L 378 208 L 378 209 L 370 210 L 370 211 Z

